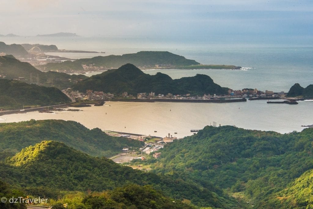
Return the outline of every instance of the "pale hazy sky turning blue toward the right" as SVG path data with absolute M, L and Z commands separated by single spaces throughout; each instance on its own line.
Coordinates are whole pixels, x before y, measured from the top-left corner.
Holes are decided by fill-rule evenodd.
M 0 34 L 308 39 L 312 0 L 1 0 Z

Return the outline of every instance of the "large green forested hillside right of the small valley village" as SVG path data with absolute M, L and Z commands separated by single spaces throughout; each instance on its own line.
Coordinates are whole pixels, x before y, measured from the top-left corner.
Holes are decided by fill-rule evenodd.
M 312 128 L 280 134 L 207 126 L 196 135 L 167 144 L 160 160 L 151 158 L 146 163 L 158 174 L 183 176 L 199 184 L 210 182 L 229 192 L 242 192 L 256 208 L 300 208 L 312 198 L 312 193 L 306 192 L 311 191 L 307 188 L 311 171 L 305 173 L 313 169 L 312 150 Z M 297 185 L 299 194 L 293 195 L 295 184 L 289 183 L 301 175 L 300 179 L 309 183 Z M 288 197 L 289 201 L 282 204 L 278 196 Z

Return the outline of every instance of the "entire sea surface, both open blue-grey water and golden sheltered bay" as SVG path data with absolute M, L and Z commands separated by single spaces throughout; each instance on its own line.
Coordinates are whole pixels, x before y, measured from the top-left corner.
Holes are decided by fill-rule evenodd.
M 285 91 L 300 83 L 313 84 L 313 46 L 308 45 L 252 45 L 180 43 L 136 38 L 56 38 L 13 37 L 1 38 L 7 44 L 55 44 L 59 49 L 105 51 L 105 54 L 54 53 L 69 58 L 90 58 L 99 55 L 122 55 L 142 50 L 170 51 L 202 64 L 224 64 L 248 67 L 243 70 L 149 70 L 148 74 L 162 72 L 173 79 L 206 74 L 214 82 L 232 89 L 257 88 Z M 87 76 L 95 73 L 87 74 Z M 273 130 L 286 133 L 302 130 L 301 125 L 312 124 L 313 102 L 298 105 L 267 104 L 266 101 L 241 103 L 138 103 L 111 102 L 112 106 L 81 108 L 81 112 L 58 114 L 29 112 L 1 116 L 0 122 L 29 119 L 75 120 L 88 128 L 118 130 L 132 133 L 165 136 L 177 132 L 178 137 L 191 135 L 190 129 L 201 129 L 213 121 L 241 128 Z M 240 107 L 240 109 L 239 109 Z M 169 111 L 171 109 L 171 111 Z M 107 112 L 107 114 L 105 114 Z M 126 128 L 124 128 L 126 126 Z M 173 134 L 174 135 L 174 134 Z

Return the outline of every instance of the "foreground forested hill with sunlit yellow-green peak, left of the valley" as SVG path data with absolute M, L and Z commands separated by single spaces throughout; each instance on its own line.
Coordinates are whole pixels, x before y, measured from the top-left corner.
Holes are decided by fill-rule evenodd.
M 38 195 L 38 192 L 41 192 L 40 195 L 45 195 L 47 198 L 56 197 L 60 190 L 104 191 L 126 185 L 110 193 L 112 200 L 126 206 L 141 204 L 145 198 L 148 201 L 146 204 L 151 206 L 169 205 L 170 199 L 162 198 L 159 191 L 172 199 L 178 201 L 186 199 L 185 202 L 191 201 L 198 206 L 219 208 L 238 206 L 237 201 L 211 184 L 199 187 L 178 176 L 156 175 L 134 170 L 104 157 L 91 157 L 56 141 L 42 141 L 22 149 L 20 153 L 7 158 L 5 162 L 0 162 L 0 176 L 3 181 L 21 187 L 29 195 Z M 131 185 L 127 186 L 129 184 Z M 150 186 L 142 188 L 132 184 L 151 185 L 153 189 Z M 130 196 L 130 194 L 140 193 L 142 196 Z M 92 205 L 94 201 L 98 200 L 87 198 L 83 203 Z M 179 206 L 181 203 L 177 204 Z M 140 205 L 137 207 L 144 208 Z M 160 208 L 160 206 L 153 206 L 153 208 Z

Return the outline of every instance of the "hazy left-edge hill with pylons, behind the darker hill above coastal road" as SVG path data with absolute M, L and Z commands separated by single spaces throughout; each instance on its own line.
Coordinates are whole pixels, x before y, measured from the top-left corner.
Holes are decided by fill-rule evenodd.
M 36 82 L 38 77 L 40 85 L 53 86 L 61 90 L 87 78 L 84 75 L 69 75 L 53 71 L 42 72 L 27 62 L 15 59 L 12 55 L 0 56 L 0 75 L 6 76 L 6 79 L 23 77 L 23 81 L 26 83 Z

